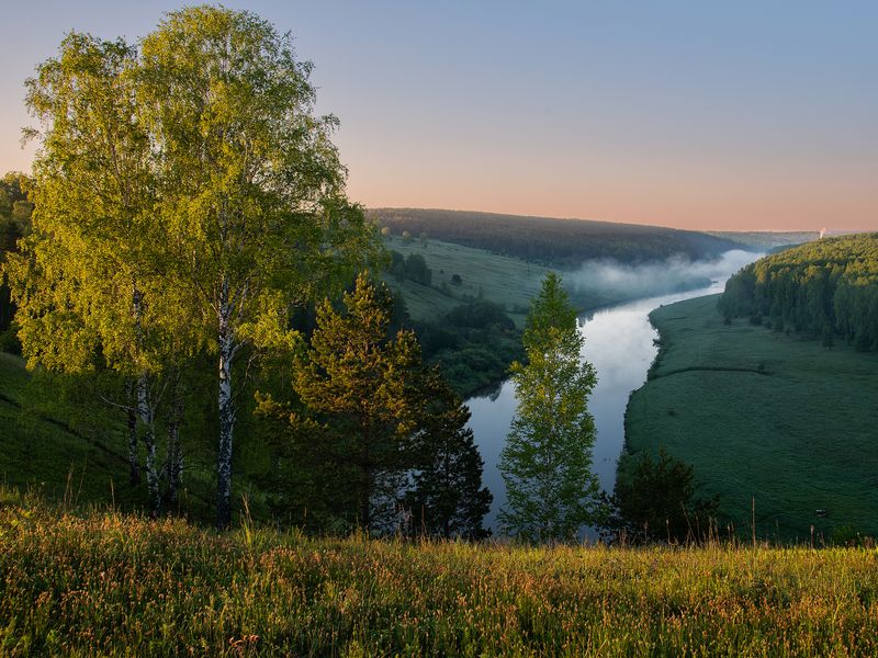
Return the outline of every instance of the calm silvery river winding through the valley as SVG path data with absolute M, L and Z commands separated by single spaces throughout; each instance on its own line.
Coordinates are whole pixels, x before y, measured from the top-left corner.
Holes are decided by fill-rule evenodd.
M 616 484 L 616 464 L 624 444 L 628 398 L 646 381 L 646 372 L 657 352 L 653 341 L 658 333 L 650 325 L 650 311 L 665 304 L 721 293 L 729 276 L 758 257 L 735 251 L 713 263 L 693 263 L 695 271 L 711 277 L 710 286 L 628 302 L 579 318 L 579 331 L 585 336 L 583 356 L 597 370 L 597 386 L 588 399 L 588 410 L 597 430 L 593 468 L 606 491 L 612 492 Z M 497 463 L 516 408 L 515 389 L 511 382 L 506 381 L 491 395 L 472 397 L 466 405 L 472 412 L 469 427 L 485 461 L 483 484 L 494 495 L 484 523 L 497 535 L 497 512 L 506 502 Z

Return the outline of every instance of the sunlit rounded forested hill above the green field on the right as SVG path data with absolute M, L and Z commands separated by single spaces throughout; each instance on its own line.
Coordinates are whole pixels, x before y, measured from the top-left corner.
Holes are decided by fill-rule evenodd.
M 747 265 L 725 284 L 720 310 L 776 330 L 841 338 L 878 350 L 878 232 L 824 238 Z

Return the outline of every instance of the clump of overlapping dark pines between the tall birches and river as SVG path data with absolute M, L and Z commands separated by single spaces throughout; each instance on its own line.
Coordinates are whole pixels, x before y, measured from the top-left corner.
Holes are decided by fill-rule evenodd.
M 283 421 L 305 460 L 291 480 L 333 487 L 333 504 L 315 501 L 326 519 L 371 532 L 480 537 L 491 494 L 465 429 L 469 410 L 424 366 L 412 331 L 390 336 L 392 318 L 390 291 L 361 274 L 340 308 L 328 300 L 318 308 L 292 404 L 264 398 L 261 411 Z

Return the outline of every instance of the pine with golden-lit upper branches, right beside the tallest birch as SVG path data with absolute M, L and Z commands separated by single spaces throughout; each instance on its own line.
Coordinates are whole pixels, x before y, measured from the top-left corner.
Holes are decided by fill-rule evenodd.
M 326 454 L 356 474 L 357 521 L 370 531 L 392 523 L 420 415 L 420 348 L 412 331 L 387 338 L 392 300 L 386 286 L 360 274 L 344 310 L 324 303 L 293 384 L 333 442 Z

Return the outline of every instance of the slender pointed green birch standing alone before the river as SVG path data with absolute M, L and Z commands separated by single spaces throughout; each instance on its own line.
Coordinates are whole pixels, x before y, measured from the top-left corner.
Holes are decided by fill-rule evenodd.
M 576 311 L 547 274 L 524 332 L 528 362 L 514 362 L 518 408 L 500 454 L 507 506 L 499 521 L 527 542 L 573 541 L 596 520 L 595 427 L 587 399 L 597 377 L 582 361 Z

